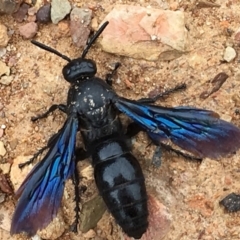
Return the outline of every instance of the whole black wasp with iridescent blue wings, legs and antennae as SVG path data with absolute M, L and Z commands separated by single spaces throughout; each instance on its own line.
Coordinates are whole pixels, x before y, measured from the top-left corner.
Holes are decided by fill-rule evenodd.
M 203 157 L 218 159 L 240 147 L 240 129 L 221 120 L 213 111 L 154 105 L 162 97 L 184 89 L 184 84 L 154 98 L 130 100 L 118 96 L 111 87 L 119 63 L 107 74 L 106 79 L 95 76 L 96 63 L 85 56 L 107 25 L 108 22 L 105 22 L 99 28 L 88 41 L 81 57 L 73 60 L 32 41 L 68 61 L 62 74 L 70 83 L 67 104 L 52 105 L 32 121 L 45 118 L 56 109 L 66 113 L 67 119 L 59 132 L 50 138 L 47 146 L 20 165 L 24 167 L 47 150 L 16 191 L 19 200 L 12 218 L 11 234 L 26 232 L 32 236 L 46 227 L 58 212 L 64 185 L 69 178 L 73 179 L 75 185 L 76 231 L 80 201 L 76 163 L 90 157 L 97 188 L 110 213 L 128 236 L 141 238 L 148 228 L 146 187 L 142 169 L 127 144 L 129 138 L 139 131 L 145 131 L 158 146 L 157 154 L 164 148 L 193 160 Z M 132 120 L 126 131 L 120 121 L 120 113 Z M 84 149 L 76 148 L 78 131 Z M 196 157 L 165 144 L 167 140 Z

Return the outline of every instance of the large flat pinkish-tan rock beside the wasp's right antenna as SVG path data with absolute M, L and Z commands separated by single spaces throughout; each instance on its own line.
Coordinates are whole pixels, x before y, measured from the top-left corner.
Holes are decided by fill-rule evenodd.
M 101 45 L 107 52 L 146 60 L 170 60 L 187 50 L 183 12 L 116 5 L 105 21 L 109 25 L 102 33 Z

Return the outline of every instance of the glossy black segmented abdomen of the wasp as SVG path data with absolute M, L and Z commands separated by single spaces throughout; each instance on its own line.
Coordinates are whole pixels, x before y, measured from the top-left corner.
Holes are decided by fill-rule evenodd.
M 141 238 L 148 227 L 147 194 L 141 167 L 124 142 L 108 140 L 100 145 L 93 155 L 98 190 L 123 231 L 130 237 Z

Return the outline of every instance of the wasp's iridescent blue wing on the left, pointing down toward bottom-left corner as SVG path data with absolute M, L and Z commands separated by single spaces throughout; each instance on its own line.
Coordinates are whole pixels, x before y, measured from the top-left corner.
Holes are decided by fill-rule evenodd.
M 46 227 L 60 207 L 65 181 L 75 169 L 75 142 L 78 120 L 68 117 L 46 156 L 32 169 L 16 195 L 11 234 L 30 236 Z

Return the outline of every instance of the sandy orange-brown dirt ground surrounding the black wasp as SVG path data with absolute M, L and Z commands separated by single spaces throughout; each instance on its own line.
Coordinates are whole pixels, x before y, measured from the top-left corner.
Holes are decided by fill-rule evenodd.
M 88 1 L 81 0 L 70 2 L 79 7 L 96 4 L 93 1 L 87 3 Z M 240 127 L 240 42 L 237 34 L 240 31 L 239 0 L 137 2 L 102 0 L 99 2 L 101 8 L 95 9 L 93 13 L 94 22 L 101 23 L 116 3 L 181 10 L 185 14 L 190 35 L 190 51 L 171 61 L 147 62 L 108 54 L 95 44 L 88 58 L 96 61 L 97 75 L 104 78 L 112 63 L 121 62 L 122 66 L 113 88 L 119 95 L 129 99 L 147 97 L 152 91 L 158 92 L 184 82 L 187 84 L 186 91 L 171 95 L 157 104 L 210 109 L 217 112 L 222 119 Z M 0 125 L 4 128 L 0 141 L 6 149 L 6 154 L 0 156 L 0 168 L 10 175 L 12 164 L 16 165 L 18 161 L 17 157 L 21 160 L 28 159 L 25 156 L 31 156 L 43 147 L 63 125 L 66 116 L 59 111 L 36 123 L 32 123 L 30 118 L 44 112 L 54 103 L 65 103 L 69 84 L 61 74 L 66 62 L 23 39 L 18 34 L 18 28 L 23 23 L 17 23 L 10 15 L 0 16 L 0 22 L 12 31 L 6 46 L 7 53 L 0 58 L 10 67 L 13 77 L 9 85 L 0 83 Z M 68 23 L 68 17 L 62 22 Z M 82 49 L 73 45 L 64 26 L 41 24 L 35 38 L 70 58 L 76 58 Z M 230 62 L 223 59 L 227 47 L 235 49 L 237 53 L 235 59 Z M 219 90 L 206 97 L 206 92 L 214 87 L 211 80 L 221 72 L 229 77 Z M 142 165 L 147 189 L 155 194 L 171 215 L 170 229 L 164 240 L 239 240 L 240 212 L 225 212 L 219 206 L 219 201 L 231 192 L 240 193 L 240 151 L 220 161 L 204 159 L 201 163 L 190 162 L 173 153 L 163 152 L 162 165 L 156 169 L 151 164 L 154 149 L 145 134 L 139 134 L 135 138 L 133 153 Z M 86 161 L 79 165 L 79 169 L 89 165 L 90 162 Z M 31 166 L 16 173 L 15 178 L 19 183 L 30 169 Z M 91 177 L 84 180 L 84 184 L 87 191 L 83 194 L 82 201 L 96 195 L 95 183 Z M 0 239 L 27 239 L 24 235 L 9 234 L 16 199 L 6 188 L 3 189 L 5 193 L 0 191 Z M 65 224 L 56 228 L 64 231 L 58 239 L 124 239 L 121 229 L 108 212 L 105 212 L 97 226 L 87 234 L 71 233 L 69 225 L 74 212 L 68 209 L 69 202 L 73 201 L 72 189 L 69 181 L 61 207 Z M 52 235 L 49 234 L 48 239 L 56 239 L 56 229 L 51 230 Z

